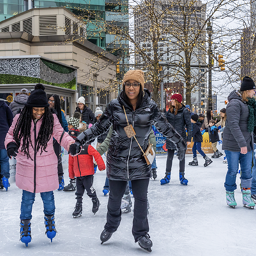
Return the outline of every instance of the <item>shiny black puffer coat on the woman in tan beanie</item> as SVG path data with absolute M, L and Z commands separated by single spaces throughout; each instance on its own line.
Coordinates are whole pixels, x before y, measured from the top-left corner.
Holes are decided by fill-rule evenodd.
M 148 147 L 148 138 L 152 125 L 157 130 L 179 144 L 180 150 L 186 149 L 186 143 L 173 129 L 166 118 L 161 114 L 156 102 L 150 100 L 150 93 L 144 90 L 145 95 L 139 108 L 135 111 L 124 101 L 122 92 L 118 99 L 112 100 L 99 121 L 90 129 L 84 131 L 77 140 L 89 141 L 107 131 L 113 124 L 113 134 L 109 143 L 107 156 L 107 175 L 110 180 L 136 180 L 150 177 L 151 166 L 147 165 L 143 154 L 134 138 L 127 138 L 124 127 L 127 121 L 124 109 L 127 113 L 129 124 L 134 127 L 136 138 L 145 151 Z

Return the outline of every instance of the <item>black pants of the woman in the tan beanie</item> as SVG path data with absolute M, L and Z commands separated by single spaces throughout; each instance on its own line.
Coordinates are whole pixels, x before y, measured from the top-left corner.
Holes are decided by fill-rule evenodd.
M 134 196 L 134 216 L 132 223 L 132 235 L 135 241 L 147 234 L 147 193 L 149 179 L 132 180 L 132 193 Z M 108 214 L 105 229 L 108 232 L 115 232 L 121 222 L 122 197 L 127 187 L 127 182 L 122 180 L 109 180 L 110 192 L 108 200 Z

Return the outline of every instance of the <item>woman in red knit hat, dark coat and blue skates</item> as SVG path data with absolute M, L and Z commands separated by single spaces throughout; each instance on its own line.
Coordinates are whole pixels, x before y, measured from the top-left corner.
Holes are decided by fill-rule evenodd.
M 171 106 L 165 117 L 168 122 L 176 129 L 177 132 L 184 138 L 187 145 L 191 143 L 191 121 L 188 109 L 181 103 L 182 95 L 175 93 L 171 97 Z M 188 131 L 188 135 L 186 132 Z M 168 149 L 168 156 L 166 161 L 166 171 L 164 179 L 161 179 L 161 185 L 168 184 L 171 179 L 172 172 L 172 161 L 174 152 L 176 150 L 175 145 L 172 141 L 166 141 L 166 148 Z M 188 180 L 184 177 L 185 175 L 185 158 L 180 161 L 180 184 L 188 185 Z

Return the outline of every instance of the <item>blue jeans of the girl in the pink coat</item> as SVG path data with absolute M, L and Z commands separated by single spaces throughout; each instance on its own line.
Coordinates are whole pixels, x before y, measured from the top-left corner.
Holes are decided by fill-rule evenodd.
M 44 203 L 44 214 L 49 216 L 53 215 L 55 212 L 53 191 L 42 192 L 40 194 Z M 23 190 L 21 207 L 20 207 L 20 220 L 31 220 L 32 206 L 35 201 L 35 196 L 36 196 L 35 193 L 31 193 L 29 191 Z

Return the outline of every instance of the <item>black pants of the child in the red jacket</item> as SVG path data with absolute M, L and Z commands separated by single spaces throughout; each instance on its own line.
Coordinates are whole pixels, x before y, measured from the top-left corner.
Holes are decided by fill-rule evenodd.
M 76 178 L 76 200 L 77 203 L 83 202 L 84 190 L 90 198 L 96 198 L 97 194 L 93 188 L 93 175 L 77 177 Z

